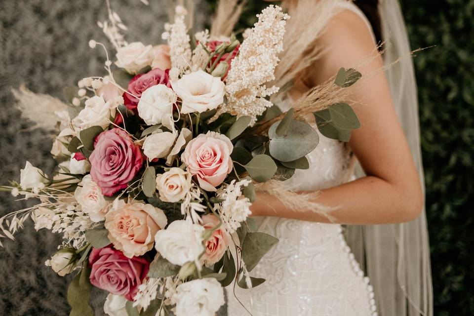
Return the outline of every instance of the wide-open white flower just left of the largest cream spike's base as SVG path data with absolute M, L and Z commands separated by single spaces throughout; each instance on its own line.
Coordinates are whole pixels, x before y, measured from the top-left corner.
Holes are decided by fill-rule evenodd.
M 218 77 L 198 70 L 172 82 L 173 90 L 183 100 L 181 113 L 202 113 L 217 108 L 224 102 L 226 85 Z

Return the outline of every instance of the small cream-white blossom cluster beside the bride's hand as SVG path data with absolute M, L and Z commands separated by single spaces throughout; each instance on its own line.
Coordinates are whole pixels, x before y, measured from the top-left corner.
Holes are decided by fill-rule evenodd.
M 242 197 L 242 188 L 251 183 L 250 180 L 242 179 L 238 182 L 232 180 L 227 186 L 223 185 L 217 191 L 217 198 L 223 199 L 221 204 L 215 204 L 217 211 L 221 215 L 221 220 L 226 231 L 234 233 L 240 227 L 240 223 L 245 221 L 252 214 L 250 205 L 252 203 L 247 197 Z

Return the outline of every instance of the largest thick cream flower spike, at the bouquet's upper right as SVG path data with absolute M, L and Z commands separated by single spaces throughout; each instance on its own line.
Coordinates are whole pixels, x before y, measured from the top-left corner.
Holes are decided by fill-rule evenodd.
M 258 22 L 247 33 L 237 57 L 232 60 L 226 79 L 228 103 L 222 105 L 217 113 L 249 116 L 251 124 L 273 105 L 265 97 L 276 93 L 278 88 L 267 88 L 265 84 L 275 79 L 277 56 L 283 50 L 285 24 L 289 18 L 276 5 L 268 6 L 257 17 Z

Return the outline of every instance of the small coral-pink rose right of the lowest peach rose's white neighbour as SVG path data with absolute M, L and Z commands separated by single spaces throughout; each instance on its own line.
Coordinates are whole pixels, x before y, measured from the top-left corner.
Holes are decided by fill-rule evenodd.
M 202 226 L 205 229 L 212 229 L 219 225 L 219 219 L 213 214 L 207 214 L 201 217 Z M 206 252 L 202 255 L 201 260 L 206 266 L 212 266 L 219 260 L 226 252 L 230 244 L 231 237 L 224 229 L 216 229 L 212 236 L 206 240 Z

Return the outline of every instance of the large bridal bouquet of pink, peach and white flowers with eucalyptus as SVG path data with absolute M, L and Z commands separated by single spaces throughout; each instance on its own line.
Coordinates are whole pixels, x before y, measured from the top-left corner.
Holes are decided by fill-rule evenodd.
M 65 89 L 70 104 L 56 111 L 51 150 L 55 175 L 26 162 L 19 182 L 0 187 L 38 199 L 3 216 L 0 237 L 14 239 L 28 218 L 37 230 L 63 234 L 46 265 L 75 274 L 71 315 L 93 315 L 91 286 L 110 293 L 104 310 L 111 316 L 214 315 L 223 287 L 265 281 L 249 272 L 277 239 L 257 232 L 250 206 L 260 185 L 277 193 L 295 169 L 309 167 L 318 133 L 305 113 L 325 90 L 310 91 L 286 113 L 274 106 L 270 97 L 283 87 L 269 82 L 289 19 L 278 6 L 264 9 L 242 42 L 207 30 L 191 40 L 187 12 L 177 6 L 163 34 L 168 44 L 158 46 L 126 42 L 126 27 L 109 12 L 99 26 L 115 60 L 107 55 L 107 76 Z M 359 77 L 341 69 L 327 87 Z M 316 127 L 348 141 L 359 126 L 352 108 L 326 103 L 312 114 Z M 289 206 L 304 203 L 304 195 L 286 192 L 279 198 Z

